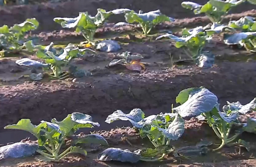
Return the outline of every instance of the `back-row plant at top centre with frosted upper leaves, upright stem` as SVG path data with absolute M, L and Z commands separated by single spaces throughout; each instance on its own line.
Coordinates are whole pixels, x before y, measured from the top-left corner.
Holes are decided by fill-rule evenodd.
M 142 28 L 143 34 L 146 36 L 149 34 L 155 25 L 163 22 L 173 22 L 174 19 L 161 14 L 160 10 L 149 11 L 148 13 L 136 13 L 130 11 L 125 14 L 126 22 L 128 23 L 139 23 Z

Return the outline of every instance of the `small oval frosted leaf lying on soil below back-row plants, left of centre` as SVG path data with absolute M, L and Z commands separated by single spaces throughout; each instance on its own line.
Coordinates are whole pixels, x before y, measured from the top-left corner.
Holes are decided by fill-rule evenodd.
M 104 40 L 97 44 L 96 49 L 101 50 L 101 52 L 116 52 L 121 49 L 121 47 L 117 41 Z

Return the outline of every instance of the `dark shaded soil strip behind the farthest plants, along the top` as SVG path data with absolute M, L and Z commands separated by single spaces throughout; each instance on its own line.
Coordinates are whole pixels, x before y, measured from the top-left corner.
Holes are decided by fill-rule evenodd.
M 46 3 L 36 5 L 20 5 L 0 8 L 0 26 L 20 23 L 27 18 L 36 17 L 40 22 L 39 31 L 53 31 L 61 29 L 61 26 L 53 21 L 54 17 L 76 17 L 80 11 L 88 11 L 89 14 L 96 14 L 97 8 L 113 10 L 116 8 L 130 8 L 135 11 L 144 12 L 160 9 L 163 14 L 175 19 L 195 17 L 192 11 L 181 7 L 181 0 L 80 0 L 60 3 Z M 194 1 L 205 4 L 207 0 Z M 145 5 L 146 4 L 146 5 Z M 241 13 L 254 9 L 255 6 L 247 2 L 234 8 L 231 13 Z M 119 22 L 123 16 L 114 16 L 110 22 Z

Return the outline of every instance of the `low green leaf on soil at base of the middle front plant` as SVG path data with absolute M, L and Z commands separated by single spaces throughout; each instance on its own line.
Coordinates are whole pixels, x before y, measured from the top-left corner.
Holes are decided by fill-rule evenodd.
M 145 150 L 140 151 L 140 155 L 142 157 L 155 157 L 160 154 L 169 154 L 174 151 L 174 147 L 172 145 L 160 145 L 155 149 L 146 148 Z

